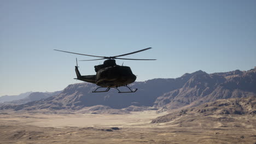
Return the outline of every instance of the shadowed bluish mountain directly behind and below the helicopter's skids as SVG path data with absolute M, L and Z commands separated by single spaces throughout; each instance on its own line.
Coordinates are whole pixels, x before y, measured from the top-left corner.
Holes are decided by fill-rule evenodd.
M 66 87 L 59 95 L 48 99 L 32 101 L 19 106 L 5 106 L 0 109 L 82 109 L 83 107 L 105 105 L 113 109 L 123 109 L 131 105 L 152 106 L 157 97 L 165 92 L 182 87 L 190 76 L 177 79 L 153 79 L 145 82 L 134 82 L 132 87 L 138 88 L 136 93 L 117 93 L 111 89 L 107 93 L 92 93 L 97 87 L 92 83 L 75 83 Z M 159 87 L 161 86 L 161 87 Z M 127 89 L 123 89 L 127 91 Z

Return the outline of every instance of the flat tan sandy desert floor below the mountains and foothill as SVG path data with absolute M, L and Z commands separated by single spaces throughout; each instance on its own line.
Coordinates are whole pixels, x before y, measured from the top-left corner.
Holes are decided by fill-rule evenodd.
M 150 123 L 164 114 L 0 112 L 0 143 L 256 143 L 253 116 L 195 115 L 168 123 Z

